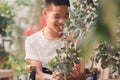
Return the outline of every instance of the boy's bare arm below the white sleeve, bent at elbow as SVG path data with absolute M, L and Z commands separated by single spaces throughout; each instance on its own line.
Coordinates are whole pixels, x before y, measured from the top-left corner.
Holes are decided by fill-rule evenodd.
M 27 60 L 31 66 L 36 66 L 36 80 L 50 79 L 54 80 L 52 75 L 42 72 L 42 62 L 38 60 Z

